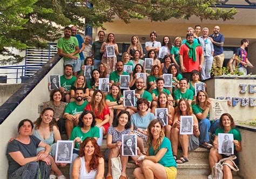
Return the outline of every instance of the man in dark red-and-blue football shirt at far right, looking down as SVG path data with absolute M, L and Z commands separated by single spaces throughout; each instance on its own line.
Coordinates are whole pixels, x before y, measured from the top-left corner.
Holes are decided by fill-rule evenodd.
M 249 40 L 242 39 L 241 40 L 241 47 L 237 49 L 237 53 L 235 53 L 235 60 L 238 62 L 238 71 L 244 75 L 247 75 L 246 65 L 248 67 L 253 68 L 252 63 L 247 58 L 247 52 L 245 50 L 246 47 L 249 45 Z

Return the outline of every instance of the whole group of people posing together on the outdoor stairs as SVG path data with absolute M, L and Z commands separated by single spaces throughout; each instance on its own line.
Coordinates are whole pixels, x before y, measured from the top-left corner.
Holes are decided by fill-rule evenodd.
M 219 120 L 210 121 L 211 98 L 205 90 L 199 90 L 197 94 L 194 90 L 195 83 L 210 77 L 207 76 L 207 69 L 211 69 L 208 60 L 215 59 L 213 64 L 222 67 L 224 37 L 218 26 L 211 37 L 206 31 L 208 29 L 204 28 L 200 37 L 200 26 L 196 26 L 195 31 L 188 28 L 186 39 L 182 41 L 177 37 L 173 45 L 167 36 L 161 44 L 156 41 L 157 33 L 151 32 L 151 41 L 146 42 L 145 51 L 153 63 L 151 70 L 146 70 L 143 48 L 136 35 L 131 38 L 131 45 L 123 53 L 122 60 L 117 61 L 119 51 L 114 34 L 108 34 L 104 41 L 105 33 L 99 31 L 99 40 L 92 46 L 85 46 L 75 27 L 65 27 L 64 37 L 57 45 L 65 65 L 60 88 L 51 90 L 50 101 L 44 102 L 44 110 L 34 123 L 29 119 L 19 123 L 18 137 L 10 140 L 6 152 L 9 178 L 65 178 L 58 168 L 65 163 L 55 163 L 54 160 L 56 141 L 61 140 L 62 133 L 74 141 L 70 178 L 103 178 L 104 160 L 107 160 L 106 178 L 111 179 L 111 159 L 118 155 L 122 163 L 120 178 L 126 178 L 129 156 L 122 155 L 123 145 L 138 164 L 134 170 L 136 178 L 176 178 L 177 163 L 188 162 L 188 152 L 199 145 L 210 150 L 212 168 L 214 163 L 227 157 L 218 153 L 219 133 L 234 135 L 232 142 L 237 155 L 241 151 L 241 136 L 234 128 L 233 118 L 224 113 Z M 107 46 L 113 46 L 116 56 L 107 56 Z M 162 46 L 168 49 L 161 55 L 163 59 L 158 58 Z M 94 66 L 91 78 L 84 76 L 82 63 Z M 132 66 L 130 74 L 124 71 L 124 65 Z M 165 87 L 163 74 L 172 74 L 172 87 Z M 122 95 L 120 75 L 130 75 L 128 85 L 134 95 Z M 110 92 L 99 89 L 99 78 L 109 78 Z M 131 99 L 134 99 L 134 105 L 126 106 L 125 101 L 131 102 Z M 156 114 L 158 108 L 165 110 Z M 180 134 L 181 116 L 192 117 L 192 134 Z M 213 142 L 210 133 L 215 134 Z M 123 134 L 136 135 L 138 155 L 134 155 L 130 148 L 133 140 L 123 144 Z M 107 151 L 103 157 L 100 146 L 104 135 Z M 183 151 L 181 156 L 178 156 L 179 146 Z M 231 177 L 231 169 L 225 166 L 224 178 Z

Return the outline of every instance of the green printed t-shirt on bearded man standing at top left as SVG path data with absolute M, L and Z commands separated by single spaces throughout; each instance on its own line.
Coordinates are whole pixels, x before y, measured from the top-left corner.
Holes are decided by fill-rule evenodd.
M 65 39 L 64 37 L 62 37 L 57 42 L 57 48 L 62 49 L 62 51 L 66 54 L 75 52 L 76 46 L 79 46 L 78 40 L 76 37 L 72 37 L 72 36 L 70 36 L 69 39 Z M 79 53 L 73 56 L 77 56 L 77 58 L 79 58 Z M 65 56 L 63 58 L 64 60 L 70 60 L 70 58 Z

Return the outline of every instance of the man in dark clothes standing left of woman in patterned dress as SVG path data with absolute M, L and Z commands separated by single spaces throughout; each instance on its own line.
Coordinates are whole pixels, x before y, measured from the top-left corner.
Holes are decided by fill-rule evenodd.
M 92 56 L 94 58 L 94 68 L 98 69 L 99 63 L 102 61 L 103 53 L 100 53 L 100 48 L 102 48 L 102 44 L 104 42 L 105 32 L 98 32 L 99 40 L 93 42 L 92 44 Z

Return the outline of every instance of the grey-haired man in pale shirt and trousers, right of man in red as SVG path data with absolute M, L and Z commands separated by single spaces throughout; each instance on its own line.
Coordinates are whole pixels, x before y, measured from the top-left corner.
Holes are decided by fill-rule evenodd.
M 204 27 L 203 35 L 198 38 L 204 53 L 204 63 L 203 63 L 203 69 L 201 71 L 202 80 L 205 80 L 211 77 L 210 70 L 212 69 L 212 62 L 213 62 L 214 47 L 211 39 L 208 37 L 208 33 L 209 33 L 208 28 Z

